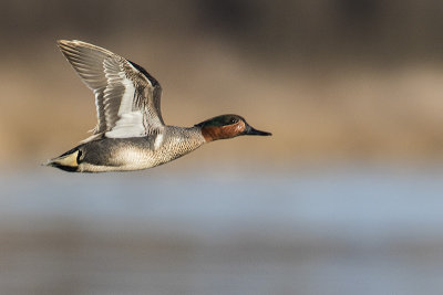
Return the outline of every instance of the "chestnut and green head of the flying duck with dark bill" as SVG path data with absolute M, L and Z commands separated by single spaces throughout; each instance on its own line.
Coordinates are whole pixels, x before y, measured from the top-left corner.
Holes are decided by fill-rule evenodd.
M 204 120 L 195 126 L 202 129 L 206 141 L 233 138 L 239 135 L 269 136 L 270 133 L 260 131 L 251 127 L 238 115 L 222 115 Z

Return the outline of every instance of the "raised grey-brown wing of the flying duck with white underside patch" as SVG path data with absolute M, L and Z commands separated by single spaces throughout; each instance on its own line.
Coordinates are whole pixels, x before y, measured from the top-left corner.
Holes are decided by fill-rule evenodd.
M 58 42 L 82 81 L 95 94 L 99 123 L 94 139 L 158 134 L 164 128 L 162 87 L 140 65 L 105 49 L 82 41 Z

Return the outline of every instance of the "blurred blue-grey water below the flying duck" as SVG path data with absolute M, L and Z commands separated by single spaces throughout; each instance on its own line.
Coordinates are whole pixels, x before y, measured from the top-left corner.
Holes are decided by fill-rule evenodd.
M 443 169 L 0 179 L 1 294 L 441 294 Z

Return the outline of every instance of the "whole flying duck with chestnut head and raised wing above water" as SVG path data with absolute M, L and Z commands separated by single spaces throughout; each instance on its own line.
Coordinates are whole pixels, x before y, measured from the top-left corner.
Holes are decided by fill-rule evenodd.
M 72 172 L 140 170 L 217 139 L 271 135 L 254 129 L 238 115 L 217 116 L 188 128 L 167 126 L 159 107 L 162 87 L 142 66 L 85 42 L 58 43 L 94 92 L 99 123 L 91 137 L 48 166 Z

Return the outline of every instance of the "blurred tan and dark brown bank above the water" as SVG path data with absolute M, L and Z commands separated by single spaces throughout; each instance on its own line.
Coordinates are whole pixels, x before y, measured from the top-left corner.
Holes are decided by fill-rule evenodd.
M 189 161 L 441 160 L 439 1 L 3 1 L 0 164 L 34 166 L 85 138 L 92 93 L 55 40 L 78 39 L 161 82 L 167 124 L 240 114 L 272 138 Z M 253 146 L 251 146 L 253 145 Z

